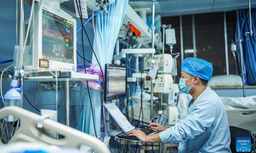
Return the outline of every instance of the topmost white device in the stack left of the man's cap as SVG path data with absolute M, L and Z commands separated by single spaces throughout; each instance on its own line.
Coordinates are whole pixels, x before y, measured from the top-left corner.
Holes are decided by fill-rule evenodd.
M 159 54 L 154 55 L 154 60 L 158 66 L 157 73 L 170 74 L 173 67 L 173 59 L 171 54 Z M 145 69 L 150 69 L 151 58 L 147 59 L 145 62 Z

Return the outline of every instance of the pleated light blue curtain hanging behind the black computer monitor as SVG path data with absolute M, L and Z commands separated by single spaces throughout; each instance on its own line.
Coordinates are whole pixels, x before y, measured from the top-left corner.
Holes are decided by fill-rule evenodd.
M 103 72 L 106 63 L 111 63 L 114 48 L 116 45 L 116 39 L 121 28 L 121 24 L 124 20 L 125 11 L 128 5 L 128 0 L 116 0 L 115 3 L 107 7 L 108 13 L 102 12 L 96 16 L 96 38 L 93 42 L 93 49 L 96 52 L 96 43 L 98 43 L 100 65 L 102 66 Z M 96 53 L 96 55 L 98 55 Z M 97 63 L 95 56 L 92 57 L 92 63 Z M 94 103 L 93 111 L 95 116 L 95 126 L 97 136 L 100 135 L 100 117 L 101 117 L 101 95 L 100 92 L 92 91 L 93 95 L 92 101 Z M 91 96 L 92 97 L 92 96 Z M 86 99 L 88 104 L 89 98 Z M 95 105 L 96 104 L 96 105 Z M 103 123 L 102 123 L 103 124 Z M 90 105 L 85 105 L 80 122 L 77 129 L 90 135 L 94 135 L 93 123 L 92 123 L 92 113 Z

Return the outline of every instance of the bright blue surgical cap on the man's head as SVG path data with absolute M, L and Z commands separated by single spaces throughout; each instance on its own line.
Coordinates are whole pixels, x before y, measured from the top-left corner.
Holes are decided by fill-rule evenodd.
M 181 65 L 181 70 L 200 79 L 209 81 L 212 78 L 212 63 L 199 58 L 185 58 Z

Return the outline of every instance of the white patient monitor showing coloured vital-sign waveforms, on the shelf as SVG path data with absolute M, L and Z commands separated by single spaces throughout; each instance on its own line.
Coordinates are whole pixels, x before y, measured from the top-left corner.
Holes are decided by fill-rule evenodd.
M 61 9 L 57 11 L 45 4 L 39 6 L 35 4 L 34 14 L 38 12 L 38 17 L 36 19 L 35 15 L 35 29 L 30 32 L 32 47 L 24 54 L 24 69 L 76 72 L 76 19 Z M 25 23 L 25 34 L 27 25 Z

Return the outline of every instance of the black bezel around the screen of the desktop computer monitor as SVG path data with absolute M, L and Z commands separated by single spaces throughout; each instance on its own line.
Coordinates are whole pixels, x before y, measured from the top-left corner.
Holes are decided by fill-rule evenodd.
M 116 68 L 125 68 L 126 73 L 125 73 L 125 92 L 122 95 L 118 96 L 112 96 L 112 97 L 107 97 L 107 73 L 108 73 L 108 67 L 116 67 Z M 120 98 L 125 98 L 126 97 L 126 90 L 127 90 L 127 66 L 126 65 L 116 65 L 116 64 L 105 64 L 105 75 L 104 75 L 104 101 L 111 101 L 115 99 L 120 99 Z

